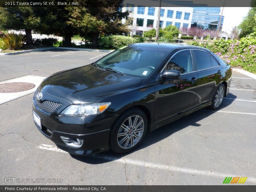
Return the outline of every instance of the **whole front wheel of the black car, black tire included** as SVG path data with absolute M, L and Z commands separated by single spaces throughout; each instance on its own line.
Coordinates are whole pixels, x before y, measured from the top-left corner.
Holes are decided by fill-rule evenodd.
M 128 153 L 139 146 L 146 135 L 147 116 L 139 108 L 128 109 L 118 117 L 110 132 L 110 148 L 116 153 Z

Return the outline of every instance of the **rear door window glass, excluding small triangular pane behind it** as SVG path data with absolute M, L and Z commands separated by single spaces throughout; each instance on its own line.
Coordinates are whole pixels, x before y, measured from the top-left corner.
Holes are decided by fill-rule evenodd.
M 209 53 L 201 50 L 193 50 L 197 70 L 207 69 L 212 67 L 212 62 Z

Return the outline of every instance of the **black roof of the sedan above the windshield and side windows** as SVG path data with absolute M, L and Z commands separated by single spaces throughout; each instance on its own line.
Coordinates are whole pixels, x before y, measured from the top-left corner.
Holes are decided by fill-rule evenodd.
M 177 43 L 134 43 L 131 44 L 133 46 L 139 46 L 139 47 L 146 47 L 146 48 L 153 48 L 153 49 L 161 49 L 161 50 L 168 50 L 172 51 L 173 49 L 202 49 L 207 50 L 202 47 L 194 46 L 194 45 L 187 45 L 187 44 L 177 44 Z

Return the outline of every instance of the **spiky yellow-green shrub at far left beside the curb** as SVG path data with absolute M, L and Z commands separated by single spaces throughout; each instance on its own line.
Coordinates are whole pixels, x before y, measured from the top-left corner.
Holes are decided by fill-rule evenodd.
M 21 33 L 15 34 L 14 32 L 7 33 L 3 37 L 3 46 L 10 50 L 19 50 L 25 43 L 25 36 Z

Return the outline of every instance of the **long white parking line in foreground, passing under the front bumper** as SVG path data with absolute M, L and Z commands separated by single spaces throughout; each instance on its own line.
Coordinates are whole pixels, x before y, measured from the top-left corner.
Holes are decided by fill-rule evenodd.
M 62 151 L 61 149 L 57 148 L 56 146 L 52 146 L 52 145 L 42 144 L 42 145 L 38 146 L 38 148 L 55 151 L 55 152 L 67 153 L 67 152 Z M 132 160 L 129 158 L 121 158 L 120 159 L 120 158 L 116 158 L 114 156 L 106 156 L 106 155 L 100 155 L 100 154 L 90 155 L 88 157 L 94 157 L 94 158 L 98 158 L 98 159 L 104 159 L 104 160 L 123 163 L 123 164 L 137 165 L 137 166 L 141 166 L 141 167 L 161 169 L 161 170 L 165 170 L 165 171 L 188 173 L 188 174 L 193 174 L 193 175 L 213 176 L 213 177 L 218 177 L 218 178 L 225 178 L 225 177 L 227 177 L 227 175 L 237 175 L 237 174 L 230 174 L 230 173 L 212 172 L 209 170 L 197 170 L 197 169 L 190 169 L 190 168 L 186 168 L 186 167 L 176 167 L 173 165 L 151 163 L 151 162 L 140 161 L 140 160 Z M 256 183 L 255 177 L 250 177 L 250 176 L 247 176 L 247 177 L 248 177 L 247 181 Z

